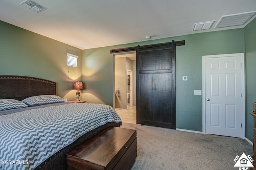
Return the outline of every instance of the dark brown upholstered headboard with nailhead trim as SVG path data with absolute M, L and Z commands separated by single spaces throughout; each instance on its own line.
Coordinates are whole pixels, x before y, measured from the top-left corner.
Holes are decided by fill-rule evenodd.
M 0 99 L 23 100 L 45 94 L 56 95 L 56 82 L 28 76 L 0 76 Z

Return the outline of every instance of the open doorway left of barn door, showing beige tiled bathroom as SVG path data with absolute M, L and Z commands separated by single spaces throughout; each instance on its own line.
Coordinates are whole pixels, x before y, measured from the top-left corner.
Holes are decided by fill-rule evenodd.
M 136 52 L 113 55 L 114 109 L 122 122 L 136 124 Z

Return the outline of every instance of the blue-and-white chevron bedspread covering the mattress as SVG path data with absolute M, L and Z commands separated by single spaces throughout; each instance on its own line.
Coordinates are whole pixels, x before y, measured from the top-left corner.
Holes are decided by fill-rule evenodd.
M 0 170 L 31 170 L 83 134 L 121 122 L 111 106 L 72 103 L 0 116 Z

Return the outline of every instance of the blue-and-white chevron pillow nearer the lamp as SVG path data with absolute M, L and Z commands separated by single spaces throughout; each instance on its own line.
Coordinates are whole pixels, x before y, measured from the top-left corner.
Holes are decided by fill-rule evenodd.
M 25 98 L 22 102 L 28 104 L 28 106 L 39 106 L 43 104 L 64 102 L 64 99 L 55 95 L 40 95 Z

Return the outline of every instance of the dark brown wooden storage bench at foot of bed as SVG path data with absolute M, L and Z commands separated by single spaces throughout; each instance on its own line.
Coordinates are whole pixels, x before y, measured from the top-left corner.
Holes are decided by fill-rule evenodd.
M 109 127 L 66 156 L 68 170 L 130 170 L 137 156 L 136 130 Z

